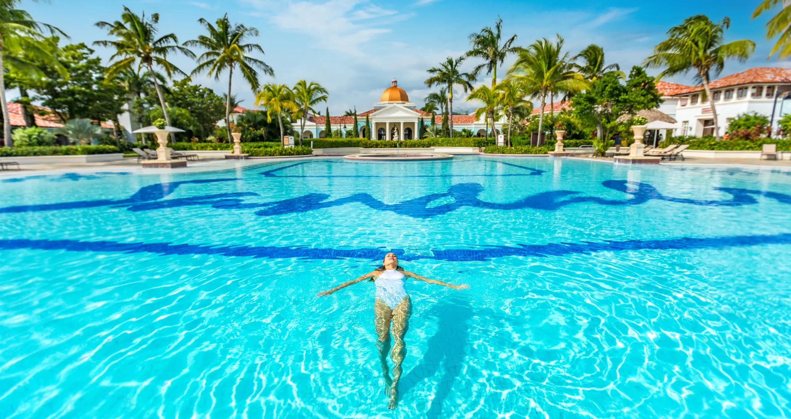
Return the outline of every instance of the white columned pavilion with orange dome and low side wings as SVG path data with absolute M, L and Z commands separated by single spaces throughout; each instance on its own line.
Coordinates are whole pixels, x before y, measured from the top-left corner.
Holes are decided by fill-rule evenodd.
M 410 102 L 407 92 L 398 86 L 398 81 L 395 78 L 392 80 L 392 85 L 384 89 L 379 102 L 373 104 L 373 109 L 357 115 L 361 138 L 365 138 L 365 116 L 368 116 L 371 123 L 373 131 L 371 138 L 376 140 L 393 139 L 396 133 L 402 140 L 418 139 L 420 138 L 418 133 L 420 119 L 423 119 L 425 126 L 431 125 L 431 114 L 421 111 L 416 104 Z M 311 115 L 305 123 L 302 138 L 327 137 L 326 118 L 326 116 Z M 441 124 L 442 115 L 436 115 L 434 123 Z M 501 129 L 502 121 L 494 125 L 495 134 L 497 134 Z M 347 130 L 354 130 L 354 116 L 330 116 L 330 126 L 333 131 L 341 130 L 345 137 Z M 298 130 L 299 126 L 295 124 L 295 128 Z M 476 120 L 475 115 L 453 115 L 453 129 L 464 130 L 465 128 L 471 130 L 476 136 L 486 136 L 486 122 L 483 120 L 483 116 Z M 492 135 L 491 126 L 489 132 Z

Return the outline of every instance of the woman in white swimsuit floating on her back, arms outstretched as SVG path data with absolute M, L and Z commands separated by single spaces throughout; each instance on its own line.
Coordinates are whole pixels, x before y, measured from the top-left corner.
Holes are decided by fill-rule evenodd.
M 358 277 L 354 281 L 344 282 L 328 291 L 322 291 L 317 295 L 328 296 L 349 285 L 374 278 L 371 281 L 374 281 L 377 285 L 377 295 L 373 303 L 373 312 L 376 315 L 373 323 L 377 327 L 377 349 L 379 350 L 379 360 L 382 365 L 384 384 L 386 386 L 384 392 L 390 396 L 388 409 L 395 409 L 398 406 L 398 382 L 401 378 L 401 372 L 403 372 L 401 364 L 403 363 L 404 355 L 407 353 L 407 347 L 403 342 L 403 338 L 409 329 L 409 317 L 412 315 L 412 302 L 407 295 L 407 290 L 403 287 L 404 279 L 407 277 L 426 281 L 429 284 L 445 285 L 452 289 L 470 288 L 469 285 L 451 285 L 447 282 L 429 279 L 408 270 L 403 270 L 398 265 L 398 256 L 395 253 L 388 253 L 384 255 L 382 266 L 379 266 L 373 272 Z M 390 334 L 395 340 L 392 350 L 390 350 Z M 388 350 L 393 360 L 392 379 L 388 372 Z

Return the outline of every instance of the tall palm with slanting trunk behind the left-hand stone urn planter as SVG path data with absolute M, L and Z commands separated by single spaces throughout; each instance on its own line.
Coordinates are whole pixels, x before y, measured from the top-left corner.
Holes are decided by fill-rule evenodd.
M 112 62 L 106 70 L 105 77 L 113 79 L 115 76 L 123 71 L 135 70 L 140 71 L 142 67 L 149 70 L 149 74 L 154 74 L 153 65 L 161 66 L 165 69 L 165 74 L 169 78 L 173 74 L 181 74 L 186 76 L 184 71 L 169 62 L 167 57 L 169 54 L 180 52 L 187 57 L 195 58 L 195 54 L 185 47 L 179 45 L 179 39 L 175 33 L 168 33 L 165 36 L 157 38 L 157 25 L 159 24 L 159 13 L 153 13 L 146 21 L 146 13 L 138 16 L 132 13 L 131 9 L 123 6 L 123 13 L 121 14 L 121 21 L 113 23 L 97 22 L 97 27 L 105 28 L 108 30 L 108 35 L 115 36 L 114 41 L 101 40 L 95 41 L 94 45 L 100 47 L 115 47 L 115 54 L 110 57 Z M 165 121 L 170 125 L 170 116 L 168 115 L 168 107 L 165 105 L 165 97 L 162 96 L 162 91 L 159 87 L 157 77 L 152 77 L 154 88 L 157 89 L 157 96 L 159 96 L 159 103 L 162 107 L 162 113 L 165 114 Z M 173 142 L 176 142 L 176 136 L 170 134 Z

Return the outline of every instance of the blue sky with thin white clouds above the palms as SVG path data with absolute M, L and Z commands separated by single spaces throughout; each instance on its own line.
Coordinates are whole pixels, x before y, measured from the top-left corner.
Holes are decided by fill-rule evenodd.
M 684 17 L 705 13 L 718 21 L 728 16 L 732 24 L 726 32 L 727 40 L 747 38 L 758 45 L 747 63 L 729 62 L 722 75 L 754 66 L 791 66 L 788 61 L 766 60 L 774 43 L 766 40 L 763 27 L 773 13 L 751 19 L 757 4 L 757 0 L 50 0 L 24 1 L 22 8 L 36 20 L 61 28 L 71 36 L 69 42 L 89 44 L 107 39 L 106 32 L 93 24 L 117 19 L 122 5 L 138 13 L 160 13 L 161 33 L 175 32 L 182 42 L 202 33 L 199 18 L 214 21 L 229 13 L 232 21 L 259 29 L 257 43 L 266 51 L 259 58 L 274 68 L 274 81 L 287 85 L 300 79 L 321 83 L 330 92 L 331 115 L 338 115 L 355 106 L 358 111 L 368 110 L 392 77 L 399 80 L 412 101 L 422 104 L 429 92 L 423 84 L 426 69 L 445 57 L 463 54 L 469 45 L 467 36 L 494 25 L 498 15 L 503 19 L 505 36 L 517 34 L 519 44 L 527 45 L 540 37 L 554 38 L 559 33 L 573 55 L 589 43 L 597 43 L 604 47 L 607 62 L 619 63 L 627 73 L 664 40 L 668 28 Z M 98 47 L 97 52 L 104 58 L 110 55 L 110 51 Z M 184 57 L 176 57 L 173 62 L 187 73 L 195 66 Z M 474 63 L 470 59 L 467 66 L 471 68 Z M 502 75 L 498 71 L 498 77 Z M 692 76 L 668 81 L 691 83 Z M 479 83 L 487 79 L 490 76 L 483 76 Z M 218 93 L 227 89 L 227 74 L 220 81 L 206 77 L 196 81 Z M 271 78 L 263 77 L 266 81 Z M 252 108 L 251 89 L 237 77 L 234 85 L 234 92 L 244 100 L 242 104 Z M 474 108 L 461 97 L 454 100 L 454 109 Z

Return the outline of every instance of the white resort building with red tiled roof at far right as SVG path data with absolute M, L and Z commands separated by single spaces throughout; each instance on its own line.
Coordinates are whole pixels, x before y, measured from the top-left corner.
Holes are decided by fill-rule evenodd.
M 719 134 L 725 134 L 731 119 L 745 112 L 757 112 L 772 116 L 774 127 L 782 115 L 786 94 L 791 91 L 791 69 L 780 67 L 756 67 L 741 73 L 718 78 L 709 83 L 711 98 L 706 97 L 702 85 L 687 86 L 676 83 L 657 82 L 663 94 L 664 104 L 660 111 L 679 121 L 674 135 L 714 134 L 714 119 L 711 111 L 713 102 L 717 109 Z M 791 99 L 791 97 L 789 97 Z M 791 105 L 791 101 L 785 104 Z

